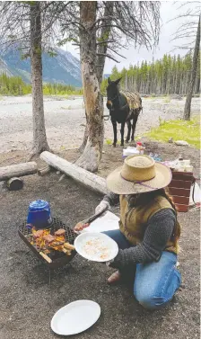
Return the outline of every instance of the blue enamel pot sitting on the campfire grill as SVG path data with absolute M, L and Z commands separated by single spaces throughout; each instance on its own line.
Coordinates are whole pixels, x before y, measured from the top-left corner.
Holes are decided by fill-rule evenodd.
M 32 201 L 29 206 L 27 224 L 31 224 L 37 229 L 51 226 L 52 218 L 48 201 Z

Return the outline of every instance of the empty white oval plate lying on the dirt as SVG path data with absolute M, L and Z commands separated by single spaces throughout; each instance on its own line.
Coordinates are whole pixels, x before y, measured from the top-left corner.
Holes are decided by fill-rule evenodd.
M 100 306 L 92 300 L 76 300 L 60 308 L 51 320 L 57 335 L 77 335 L 91 327 L 100 317 Z

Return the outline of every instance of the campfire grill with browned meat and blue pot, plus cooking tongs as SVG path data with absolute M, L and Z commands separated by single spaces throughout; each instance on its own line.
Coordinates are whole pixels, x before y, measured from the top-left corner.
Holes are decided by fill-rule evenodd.
M 102 213 L 104 210 L 83 223 L 90 225 Z M 18 234 L 48 268 L 62 267 L 76 254 L 74 240 L 78 234 L 57 217 L 51 217 L 48 201 L 31 202 L 27 222 L 18 228 Z

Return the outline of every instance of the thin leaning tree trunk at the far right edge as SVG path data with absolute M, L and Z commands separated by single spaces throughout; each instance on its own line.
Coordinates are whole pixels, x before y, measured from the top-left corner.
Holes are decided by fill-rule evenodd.
M 199 22 L 197 26 L 197 40 L 196 40 L 196 45 L 194 49 L 191 79 L 190 79 L 190 84 L 188 87 L 189 91 L 187 94 L 187 99 L 186 99 L 186 103 L 184 107 L 184 117 L 183 117 L 184 120 L 190 120 L 191 100 L 192 100 L 193 90 L 194 90 L 196 77 L 197 77 L 197 62 L 198 62 L 198 57 L 199 57 L 199 45 L 200 45 L 200 17 L 199 17 Z

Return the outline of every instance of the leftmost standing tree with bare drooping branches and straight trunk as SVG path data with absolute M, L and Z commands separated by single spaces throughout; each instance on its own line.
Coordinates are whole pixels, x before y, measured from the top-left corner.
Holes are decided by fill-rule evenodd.
M 0 43 L 31 58 L 33 146 L 31 156 L 49 150 L 42 93 L 42 52 L 52 52 L 59 13 L 68 2 L 20 1 L 0 4 Z

